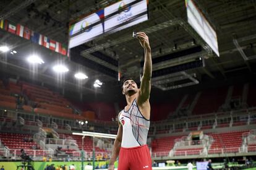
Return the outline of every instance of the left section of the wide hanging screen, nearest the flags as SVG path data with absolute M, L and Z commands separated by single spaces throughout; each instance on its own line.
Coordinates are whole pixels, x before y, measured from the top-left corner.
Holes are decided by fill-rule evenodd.
M 69 28 L 69 48 L 82 45 L 83 43 L 92 40 L 95 36 L 103 34 L 103 23 L 90 27 L 90 25 L 100 22 L 101 18 L 100 13 L 96 12 L 85 17 L 74 25 L 71 25 Z

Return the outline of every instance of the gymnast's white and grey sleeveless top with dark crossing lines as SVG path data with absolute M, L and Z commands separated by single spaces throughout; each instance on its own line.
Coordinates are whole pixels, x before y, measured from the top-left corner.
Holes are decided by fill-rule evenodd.
M 132 148 L 147 144 L 150 120 L 140 113 L 136 100 L 127 112 L 122 110 L 119 122 L 122 125 L 121 147 Z

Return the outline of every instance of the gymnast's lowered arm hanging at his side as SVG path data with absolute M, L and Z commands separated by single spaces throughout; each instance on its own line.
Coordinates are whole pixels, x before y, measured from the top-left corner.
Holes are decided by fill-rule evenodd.
M 122 143 L 122 125 L 119 122 L 119 116 L 121 113 L 118 114 L 117 117 L 117 122 L 118 122 L 118 131 L 117 131 L 117 137 L 114 140 L 114 146 L 113 146 L 113 151 L 112 151 L 112 155 L 111 158 L 109 160 L 109 168 L 108 170 L 114 170 L 114 161 L 116 161 L 117 156 L 119 155 L 119 151 L 121 148 L 121 143 Z

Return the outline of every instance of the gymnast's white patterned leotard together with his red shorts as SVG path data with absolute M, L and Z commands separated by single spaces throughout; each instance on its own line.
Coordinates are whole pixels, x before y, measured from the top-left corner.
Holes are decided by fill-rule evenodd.
M 140 113 L 136 100 L 128 111 L 119 115 L 122 125 L 122 143 L 119 152 L 118 170 L 152 169 L 147 136 L 150 120 Z

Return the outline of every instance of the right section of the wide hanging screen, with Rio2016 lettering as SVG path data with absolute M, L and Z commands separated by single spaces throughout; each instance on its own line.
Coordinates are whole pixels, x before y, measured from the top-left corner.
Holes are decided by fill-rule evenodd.
M 131 2 L 134 1 L 124 0 L 105 8 L 105 16 L 114 14 L 105 19 L 105 32 L 117 32 L 148 20 L 147 0 L 129 5 Z M 125 8 L 124 11 L 118 12 L 123 8 Z

